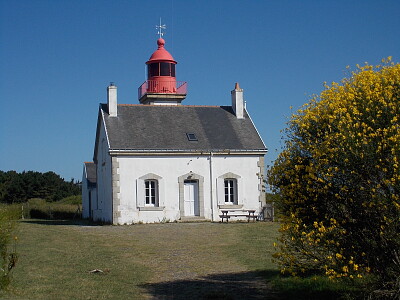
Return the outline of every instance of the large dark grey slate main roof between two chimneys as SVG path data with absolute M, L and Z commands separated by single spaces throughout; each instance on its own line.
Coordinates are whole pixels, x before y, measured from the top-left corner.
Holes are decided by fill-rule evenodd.
M 230 106 L 122 104 L 117 117 L 109 117 L 106 104 L 100 108 L 111 150 L 266 151 L 247 113 L 237 119 Z

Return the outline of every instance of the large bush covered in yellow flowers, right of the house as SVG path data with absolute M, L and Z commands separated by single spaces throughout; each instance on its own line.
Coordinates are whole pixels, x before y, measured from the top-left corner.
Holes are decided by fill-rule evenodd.
M 357 66 L 292 115 L 268 171 L 282 272 L 400 275 L 400 64 Z

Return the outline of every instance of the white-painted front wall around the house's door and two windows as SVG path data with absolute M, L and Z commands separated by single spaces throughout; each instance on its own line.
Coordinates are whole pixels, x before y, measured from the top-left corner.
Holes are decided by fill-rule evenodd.
M 101 151 L 99 151 L 99 153 L 101 153 Z M 190 172 L 204 177 L 204 217 L 206 219 L 213 219 L 214 221 L 219 220 L 218 189 L 223 188 L 223 186 L 217 187 L 217 178 L 229 172 L 240 176 L 240 191 L 238 194 L 240 196 L 239 204 L 243 205 L 242 208 L 259 211 L 261 206 L 259 202 L 259 159 L 260 157 L 256 155 L 212 156 L 211 187 L 210 155 L 119 156 L 117 157 L 119 165 L 118 174 L 120 175 L 120 203 L 118 210 L 121 213 L 117 223 L 130 224 L 139 221 L 147 223 L 178 220 L 180 218 L 178 177 Z M 98 165 L 99 169 L 101 169 L 100 160 Z M 137 189 L 138 179 L 151 173 L 162 178 L 162 183 L 160 183 L 160 206 L 165 207 L 162 211 L 143 211 L 138 209 L 137 195 L 138 193 L 140 194 L 140 191 Z M 98 176 L 99 187 L 99 180 L 102 180 L 102 182 L 106 184 L 107 181 L 111 182 L 110 174 L 111 170 L 106 170 L 104 179 Z M 106 186 L 111 187 L 109 183 Z M 109 201 L 106 200 L 107 197 L 104 196 L 107 195 L 109 199 L 111 199 L 111 190 L 106 187 L 104 191 L 99 190 L 98 192 L 99 199 L 102 199 L 103 202 L 103 209 L 105 209 L 104 204 L 107 204 L 107 207 L 111 207 Z M 219 195 L 221 195 L 221 193 Z M 105 216 L 104 213 L 103 216 Z

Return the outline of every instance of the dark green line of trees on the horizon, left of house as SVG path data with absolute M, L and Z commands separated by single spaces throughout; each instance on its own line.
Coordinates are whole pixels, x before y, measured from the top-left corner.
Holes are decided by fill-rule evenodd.
M 65 181 L 54 172 L 0 170 L 0 203 L 23 203 L 32 198 L 54 202 L 80 193 L 80 182 Z

